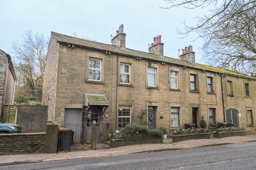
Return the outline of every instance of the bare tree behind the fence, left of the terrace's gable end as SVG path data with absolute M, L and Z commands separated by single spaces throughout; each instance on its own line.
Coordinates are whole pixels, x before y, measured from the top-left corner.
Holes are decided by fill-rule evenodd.
M 21 97 L 41 101 L 48 42 L 44 35 L 26 31 L 21 41 L 13 43 L 12 54 L 18 75 L 16 96 L 18 102 L 25 100 Z M 28 89 L 30 94 L 26 94 Z M 21 91 L 26 91 L 26 95 L 20 96 Z

